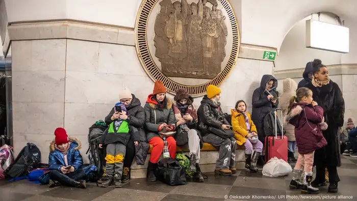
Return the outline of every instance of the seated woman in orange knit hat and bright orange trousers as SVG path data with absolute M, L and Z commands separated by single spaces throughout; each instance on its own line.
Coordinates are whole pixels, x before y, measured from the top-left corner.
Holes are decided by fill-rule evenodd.
M 147 97 L 144 106 L 145 133 L 149 144 L 153 145 L 149 165 L 147 167 L 147 178 L 155 182 L 154 170 L 164 148 L 163 135 L 159 132 L 174 131 L 176 129 L 175 115 L 172 110 L 172 102 L 166 97 L 166 88 L 161 81 L 156 81 L 152 94 Z M 171 158 L 176 156 L 176 141 L 173 137 L 166 137 Z

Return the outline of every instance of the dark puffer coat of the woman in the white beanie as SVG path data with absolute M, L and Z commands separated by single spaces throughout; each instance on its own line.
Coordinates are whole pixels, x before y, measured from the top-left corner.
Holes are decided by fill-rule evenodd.
M 134 141 L 139 141 L 140 143 L 135 147 L 136 149 L 136 163 L 138 165 L 144 165 L 147 152 L 150 148 L 149 143 L 147 143 L 146 135 L 143 130 L 143 125 L 145 121 L 144 109 L 141 107 L 140 100 L 133 95 L 132 103 L 126 107 L 127 116 L 129 117 L 128 123 L 131 134 L 134 135 Z M 108 116 L 105 118 L 107 125 L 113 121 L 110 119 L 114 114 L 114 108 L 110 111 Z

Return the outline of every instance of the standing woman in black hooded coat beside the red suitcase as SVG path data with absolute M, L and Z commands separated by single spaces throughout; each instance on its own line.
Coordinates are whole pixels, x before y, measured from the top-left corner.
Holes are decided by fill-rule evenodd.
M 275 92 L 273 91 L 277 87 L 277 80 L 270 74 L 265 74 L 260 82 L 260 87 L 254 90 L 252 96 L 252 115 L 251 120 L 256 124 L 258 131 L 258 138 L 264 145 L 265 132 L 264 132 L 264 117 L 269 112 L 273 111 L 277 106 Z M 264 156 L 264 148 L 263 153 Z M 264 165 L 264 157 L 260 157 L 258 160 L 259 165 Z

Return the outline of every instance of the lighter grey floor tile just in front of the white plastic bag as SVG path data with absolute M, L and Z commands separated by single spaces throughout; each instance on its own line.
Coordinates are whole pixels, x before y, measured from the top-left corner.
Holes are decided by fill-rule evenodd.
M 285 181 L 285 180 L 284 180 Z M 238 177 L 233 186 L 286 190 L 286 183 L 275 178 Z

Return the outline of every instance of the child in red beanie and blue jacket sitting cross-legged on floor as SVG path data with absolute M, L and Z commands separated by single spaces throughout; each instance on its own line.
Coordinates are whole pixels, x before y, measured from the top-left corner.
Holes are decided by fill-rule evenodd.
M 83 159 L 79 149 L 81 142 L 75 138 L 67 136 L 66 130 L 57 128 L 55 130 L 55 140 L 49 145 L 48 166 L 49 187 L 71 186 L 86 188 L 85 170 L 82 169 Z

